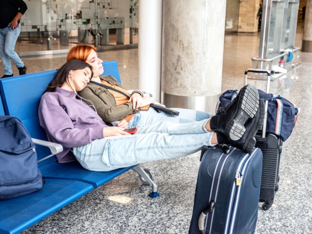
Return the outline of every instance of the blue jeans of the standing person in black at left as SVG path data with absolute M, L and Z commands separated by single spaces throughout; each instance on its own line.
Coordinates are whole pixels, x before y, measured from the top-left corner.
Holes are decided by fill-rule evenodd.
M 15 43 L 20 36 L 20 25 L 15 29 L 8 27 L 0 29 L 0 54 L 4 66 L 4 75 L 12 75 L 11 60 L 17 67 L 23 67 L 24 63 L 15 52 Z

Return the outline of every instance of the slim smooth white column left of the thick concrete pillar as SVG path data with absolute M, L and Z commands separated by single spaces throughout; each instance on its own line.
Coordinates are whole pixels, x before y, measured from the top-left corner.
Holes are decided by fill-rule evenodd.
M 138 88 L 159 102 L 162 0 L 139 1 L 138 11 Z

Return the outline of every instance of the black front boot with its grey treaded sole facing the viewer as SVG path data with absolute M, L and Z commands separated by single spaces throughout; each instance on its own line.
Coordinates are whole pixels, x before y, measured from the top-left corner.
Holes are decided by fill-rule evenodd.
M 245 123 L 253 118 L 259 107 L 259 93 L 253 85 L 246 85 L 225 108 L 210 119 L 211 130 L 223 133 L 231 140 L 239 140 L 245 133 Z

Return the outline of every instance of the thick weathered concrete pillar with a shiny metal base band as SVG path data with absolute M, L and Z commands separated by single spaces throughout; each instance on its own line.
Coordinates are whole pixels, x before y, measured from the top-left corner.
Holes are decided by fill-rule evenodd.
M 163 0 L 161 102 L 215 112 L 226 0 Z

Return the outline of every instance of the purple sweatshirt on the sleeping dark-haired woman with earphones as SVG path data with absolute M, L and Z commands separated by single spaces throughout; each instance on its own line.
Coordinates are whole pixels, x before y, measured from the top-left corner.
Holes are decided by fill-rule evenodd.
M 62 88 L 42 95 L 39 122 L 49 141 L 63 146 L 64 150 L 57 154 L 59 162 L 76 160 L 70 149 L 103 138 L 103 128 L 107 127 L 74 92 Z

